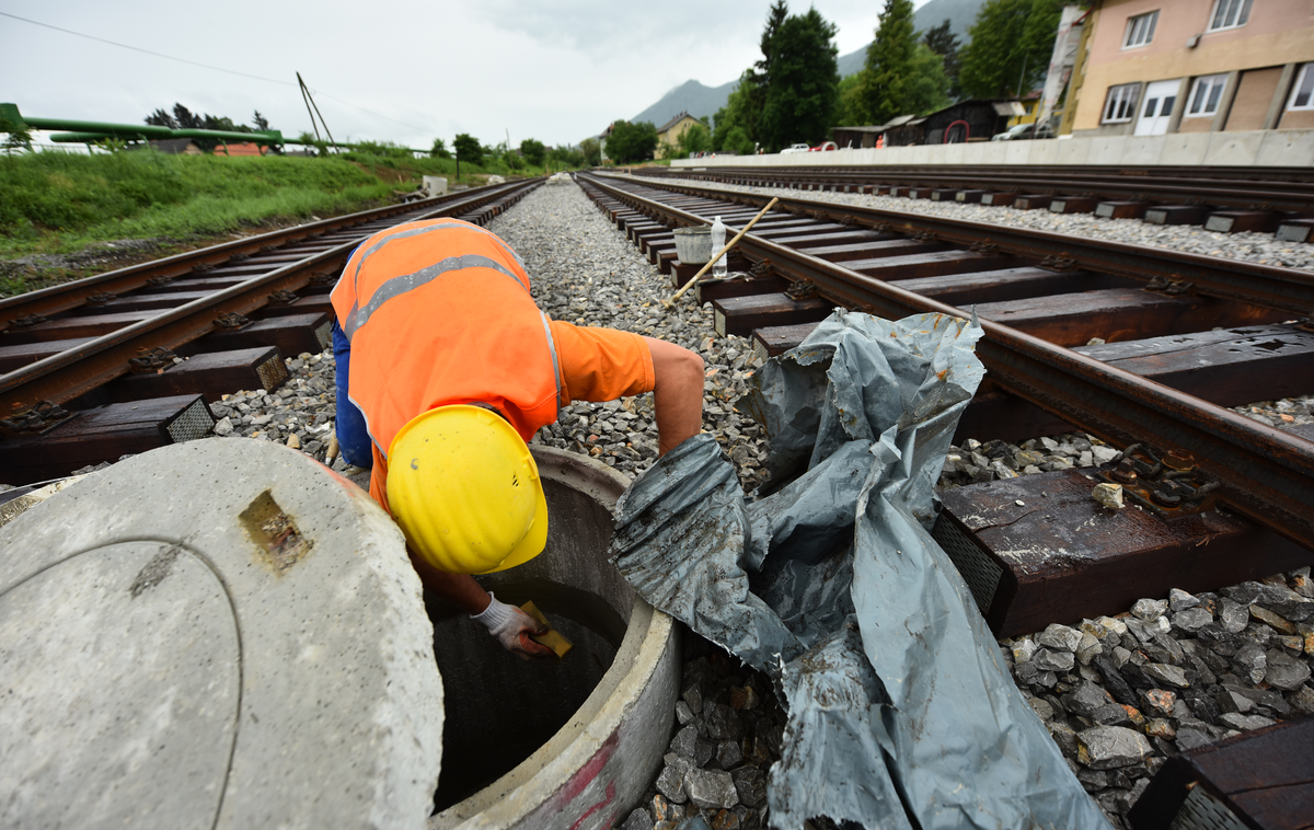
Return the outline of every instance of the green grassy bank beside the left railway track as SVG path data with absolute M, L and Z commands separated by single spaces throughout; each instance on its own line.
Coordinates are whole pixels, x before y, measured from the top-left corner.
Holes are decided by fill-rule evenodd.
M 214 236 L 275 219 L 327 217 L 385 204 L 456 162 L 350 152 L 331 158 L 227 158 L 131 151 L 0 158 L 0 259 L 71 253 L 97 242 Z M 461 181 L 511 171 L 461 163 Z

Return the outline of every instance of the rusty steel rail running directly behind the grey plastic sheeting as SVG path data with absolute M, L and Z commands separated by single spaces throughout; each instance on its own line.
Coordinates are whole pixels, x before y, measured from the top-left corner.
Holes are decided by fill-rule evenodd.
M 708 223 L 602 177 L 586 180 L 671 225 Z M 962 309 L 752 232 L 738 247 L 750 260 L 770 259 L 784 278 L 812 280 L 820 294 L 849 307 L 891 319 L 917 313 L 970 317 Z M 1238 512 L 1314 549 L 1314 443 L 1008 326 L 980 323 L 986 336 L 978 355 L 1005 389 L 1112 444 L 1150 443 L 1194 458 L 1202 471 L 1219 481 L 1219 496 Z

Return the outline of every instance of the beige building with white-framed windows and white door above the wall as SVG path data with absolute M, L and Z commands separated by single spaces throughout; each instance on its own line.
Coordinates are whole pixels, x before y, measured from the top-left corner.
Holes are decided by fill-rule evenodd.
M 1097 1 L 1070 97 L 1075 137 L 1314 127 L 1314 0 Z

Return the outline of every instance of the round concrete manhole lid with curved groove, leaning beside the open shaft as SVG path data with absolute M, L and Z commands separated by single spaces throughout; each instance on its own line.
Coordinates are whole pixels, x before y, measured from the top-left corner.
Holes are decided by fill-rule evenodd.
M 432 626 L 357 487 L 263 441 L 175 445 L 0 550 L 0 826 L 424 825 Z

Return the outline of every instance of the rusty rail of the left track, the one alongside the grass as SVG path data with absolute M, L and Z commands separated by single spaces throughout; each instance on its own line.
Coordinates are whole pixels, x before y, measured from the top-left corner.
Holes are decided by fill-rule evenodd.
M 350 213 L 331 219 L 321 219 L 319 222 L 298 225 L 297 227 L 269 231 L 268 234 L 260 234 L 258 236 L 247 236 L 244 239 L 235 239 L 233 242 L 223 242 L 215 246 L 197 248 L 196 251 L 175 253 L 173 256 L 166 256 L 148 263 L 138 263 L 137 265 L 129 265 L 126 268 L 108 271 L 91 277 L 83 277 L 80 280 L 75 280 L 74 282 L 51 285 L 35 292 L 4 297 L 0 298 L 0 332 L 8 327 L 11 320 L 28 317 L 29 314 L 49 317 L 51 314 L 76 309 L 84 305 L 87 298 L 92 294 L 102 292 L 122 294 L 145 288 L 146 281 L 154 277 L 181 277 L 191 274 L 196 265 L 218 265 L 221 263 L 226 263 L 234 253 L 258 253 L 265 246 L 279 246 L 281 248 L 283 246 L 304 242 L 327 231 L 335 231 L 403 213 L 414 213 L 417 210 L 423 210 L 424 207 L 438 207 L 459 198 L 468 198 L 473 194 L 490 192 L 491 188 L 503 186 L 506 185 L 485 185 L 482 188 L 457 190 L 444 196 L 414 201 L 406 205 L 385 205 L 382 207 L 372 207 L 369 210 Z

